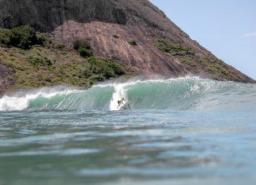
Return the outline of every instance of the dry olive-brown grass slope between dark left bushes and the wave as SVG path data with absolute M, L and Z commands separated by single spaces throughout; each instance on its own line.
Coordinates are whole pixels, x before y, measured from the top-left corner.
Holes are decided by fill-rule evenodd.
M 88 78 L 88 60 L 81 57 L 77 50 L 58 43 L 55 39 L 47 37 L 43 46 L 32 46 L 30 50 L 17 47 L 0 46 L 0 63 L 9 68 L 16 83 L 8 91 L 21 88 L 51 86 L 59 83 L 79 87 L 91 87 L 96 80 Z M 29 59 L 30 58 L 30 59 Z M 31 58 L 41 61 L 50 60 L 52 65 L 34 65 Z M 128 68 L 124 68 L 130 74 Z

